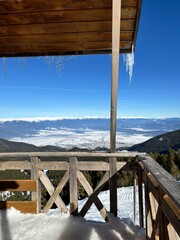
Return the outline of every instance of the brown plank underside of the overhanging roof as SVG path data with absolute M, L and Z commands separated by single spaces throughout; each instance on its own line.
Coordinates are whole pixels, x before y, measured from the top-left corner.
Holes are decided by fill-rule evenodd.
M 142 0 L 122 0 L 120 52 L 136 43 Z M 0 0 L 0 57 L 110 53 L 111 0 Z

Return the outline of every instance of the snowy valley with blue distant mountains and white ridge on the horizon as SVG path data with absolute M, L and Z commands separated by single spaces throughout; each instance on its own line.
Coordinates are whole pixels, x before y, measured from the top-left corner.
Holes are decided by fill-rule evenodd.
M 0 120 L 0 138 L 37 146 L 109 147 L 108 118 L 31 118 Z M 180 118 L 117 120 L 117 148 L 142 143 L 180 129 Z

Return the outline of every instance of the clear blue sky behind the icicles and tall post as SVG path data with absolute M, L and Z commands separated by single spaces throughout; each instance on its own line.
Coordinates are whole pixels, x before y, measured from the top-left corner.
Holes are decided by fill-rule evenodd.
M 118 117 L 180 117 L 180 1 L 143 1 L 133 78 L 120 61 Z M 0 118 L 110 115 L 111 56 L 0 59 Z

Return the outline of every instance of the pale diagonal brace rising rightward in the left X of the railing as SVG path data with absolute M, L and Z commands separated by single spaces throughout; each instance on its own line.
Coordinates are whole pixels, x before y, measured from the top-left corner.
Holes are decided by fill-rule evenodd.
M 65 184 L 67 183 L 69 179 L 69 171 L 67 171 L 63 178 L 61 179 L 60 183 L 58 184 L 58 186 L 56 187 L 55 191 L 53 192 L 53 194 L 51 195 L 50 199 L 48 200 L 48 202 L 46 203 L 45 207 L 43 208 L 42 212 L 43 213 L 47 213 L 49 211 L 49 209 L 51 208 L 51 206 L 53 205 L 53 203 L 56 201 L 58 195 L 60 194 L 60 192 L 62 191 L 63 187 L 65 186 Z M 66 207 L 65 204 L 62 204 L 61 206 L 61 210 L 64 213 L 67 213 L 68 209 Z

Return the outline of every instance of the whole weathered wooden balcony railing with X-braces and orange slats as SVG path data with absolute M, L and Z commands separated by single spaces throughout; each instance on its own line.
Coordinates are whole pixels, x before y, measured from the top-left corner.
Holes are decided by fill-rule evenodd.
M 51 161 L 47 161 L 47 159 L 43 161 L 44 157 L 51 157 Z M 88 157 L 88 161 L 82 161 L 84 157 Z M 136 161 L 117 161 L 117 159 L 121 157 L 133 157 L 136 158 Z M 31 170 L 31 180 L 4 180 L 6 185 L 4 185 L 3 180 L 0 181 L 0 191 L 32 191 L 32 201 L 29 202 L 29 207 L 25 207 L 25 205 L 28 206 L 27 202 L 20 202 L 19 205 L 16 202 L 15 207 L 21 209 L 21 206 L 24 206 L 24 209 L 21 209 L 24 212 L 32 210 L 32 212 L 42 211 L 47 213 L 55 203 L 61 211 L 67 212 L 68 209 L 60 197 L 60 193 L 69 181 L 70 213 L 84 217 L 94 203 L 105 220 L 108 220 L 107 210 L 98 198 L 99 192 L 107 181 L 109 181 L 110 211 L 117 215 L 116 173 L 119 170 L 132 170 L 138 179 L 140 226 L 144 227 L 146 225 L 147 239 L 179 239 L 180 187 L 176 180 L 149 155 L 136 152 L 34 152 L 1 153 L 0 158 L 2 159 L 0 161 L 0 170 Z M 12 158 L 16 160 L 8 160 Z M 24 160 L 18 160 L 19 158 L 23 158 Z M 55 158 L 55 161 L 52 161 L 52 158 Z M 94 158 L 95 160 L 93 161 Z M 54 187 L 44 170 L 60 170 L 65 173 L 60 179 L 59 184 Z M 95 189 L 91 187 L 83 171 L 104 172 L 102 179 Z M 11 187 L 9 187 L 10 182 Z M 78 182 L 83 186 L 89 196 L 80 211 L 78 210 Z M 134 181 L 134 183 L 136 183 L 136 181 Z M 43 209 L 41 209 L 42 185 L 50 195 Z M 135 189 L 136 185 L 134 184 L 134 193 Z M 143 199 L 143 189 L 145 189 L 145 201 Z M 134 206 L 136 205 L 135 196 L 136 194 L 134 194 Z M 9 207 L 10 205 L 13 206 L 13 203 L 8 201 L 6 203 L 0 203 L 0 207 Z

